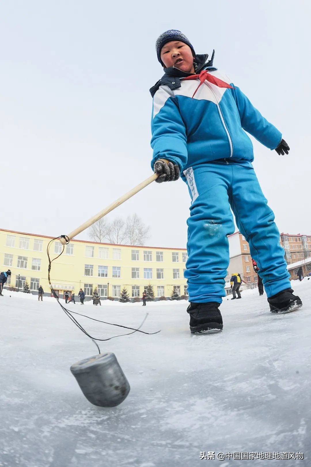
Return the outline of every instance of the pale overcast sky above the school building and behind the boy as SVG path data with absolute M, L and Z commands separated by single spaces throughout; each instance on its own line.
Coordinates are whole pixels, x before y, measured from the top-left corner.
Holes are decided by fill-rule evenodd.
M 214 48 L 214 65 L 281 130 L 290 154 L 255 141 L 254 167 L 280 231 L 311 233 L 310 2 L 14 0 L 0 10 L 1 228 L 69 233 L 152 175 L 154 44 L 176 28 L 197 53 Z M 108 219 L 137 212 L 147 245 L 184 248 L 189 204 L 181 180 L 153 183 Z

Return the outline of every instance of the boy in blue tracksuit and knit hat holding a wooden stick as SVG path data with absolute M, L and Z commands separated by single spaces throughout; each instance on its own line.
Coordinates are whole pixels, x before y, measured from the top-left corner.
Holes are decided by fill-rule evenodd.
M 284 251 L 274 214 L 263 196 L 253 166 L 253 145 L 246 130 L 280 155 L 289 146 L 282 134 L 252 106 L 213 58 L 196 55 L 180 31 L 156 42 L 165 75 L 150 92 L 152 169 L 157 182 L 188 184 L 192 198 L 188 224 L 187 277 L 191 333 L 222 330 L 219 311 L 229 264 L 228 234 L 239 231 L 249 242 L 272 312 L 302 306 L 290 288 Z M 272 267 L 273 265 L 273 267 Z

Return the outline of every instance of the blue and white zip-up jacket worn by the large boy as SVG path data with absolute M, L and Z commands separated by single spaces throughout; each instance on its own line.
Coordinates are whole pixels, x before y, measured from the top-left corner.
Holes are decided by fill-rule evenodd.
M 280 131 L 263 118 L 227 75 L 210 66 L 213 60 L 207 62 L 207 56 L 196 56 L 196 62 L 200 63 L 196 73 L 208 70 L 234 89 L 206 80 L 193 97 L 200 80 L 184 81 L 182 78 L 193 73 L 165 69 L 165 75 L 150 90 L 152 169 L 160 158 L 178 164 L 180 171 L 224 158 L 252 162 L 253 144 L 245 131 L 275 149 L 282 139 Z

